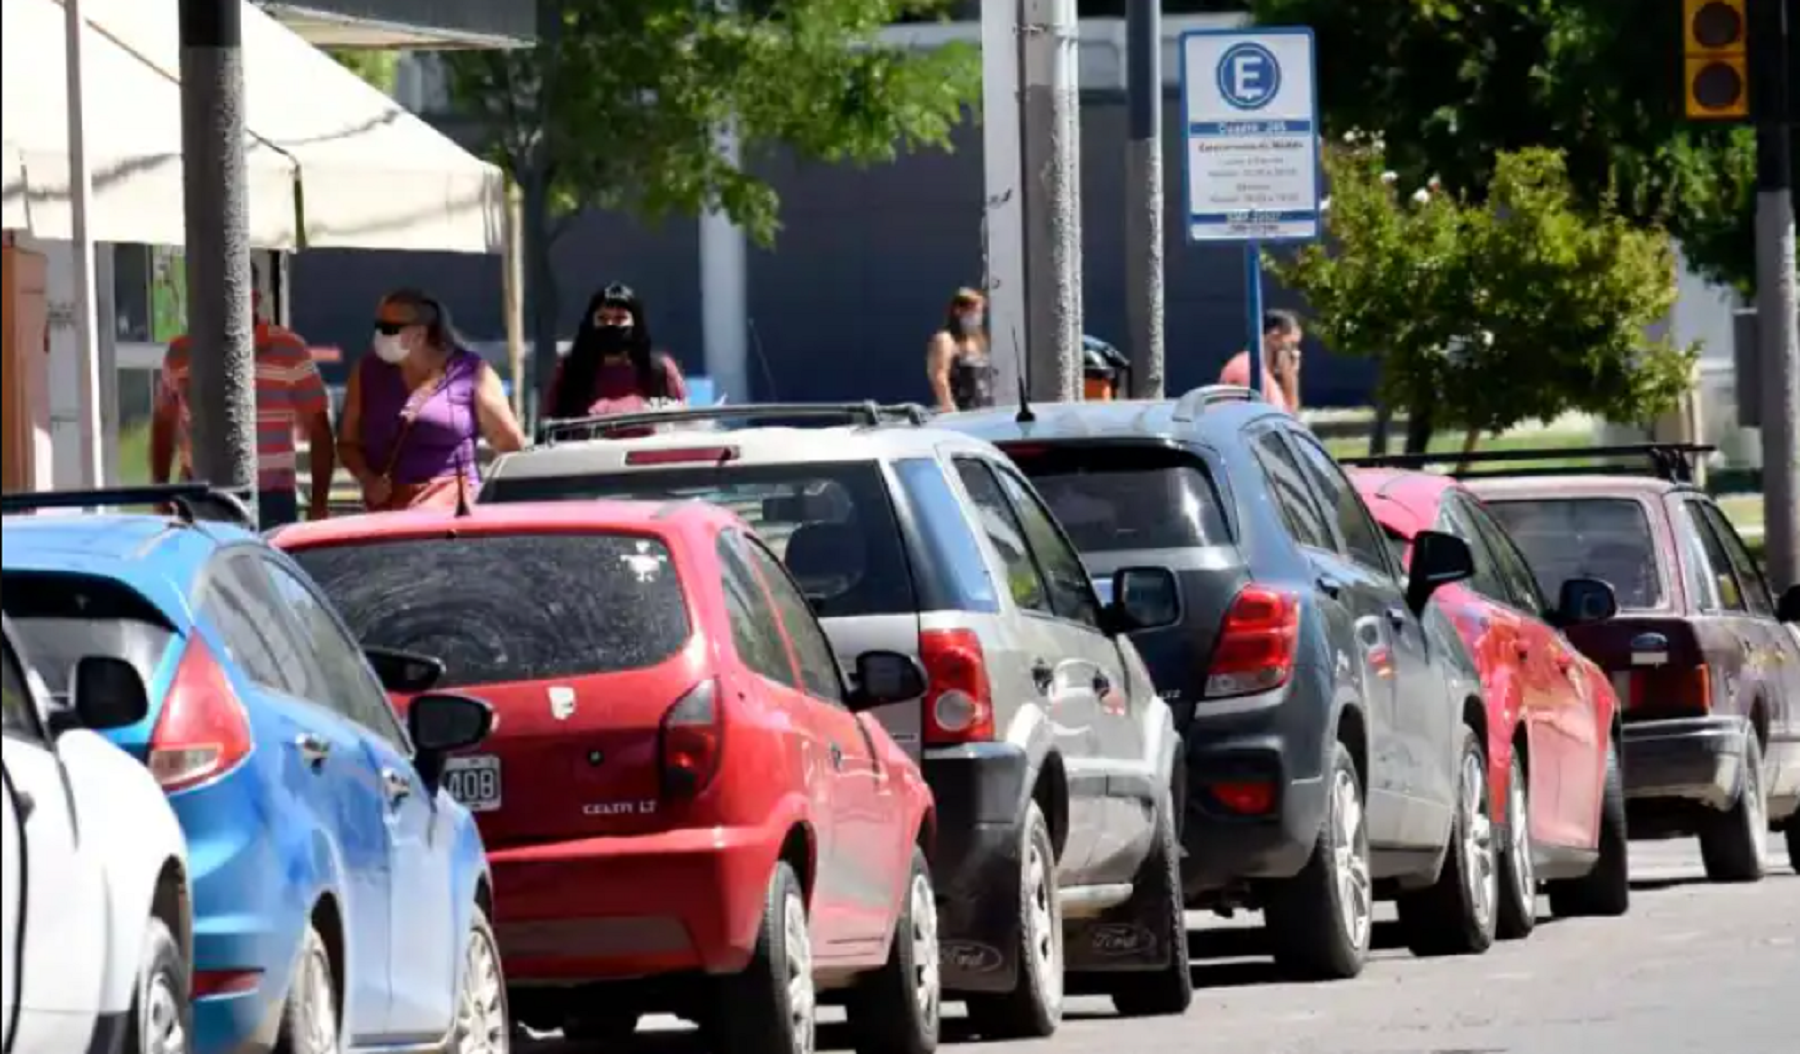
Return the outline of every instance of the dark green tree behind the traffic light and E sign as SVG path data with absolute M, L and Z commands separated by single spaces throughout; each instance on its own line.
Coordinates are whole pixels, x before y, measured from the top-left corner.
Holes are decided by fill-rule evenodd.
M 1667 227 L 1701 273 L 1755 282 L 1755 137 L 1681 115 L 1681 0 L 1251 0 L 1310 25 L 1328 131 L 1379 128 L 1408 182 L 1485 187 L 1562 151 L 1577 200 Z

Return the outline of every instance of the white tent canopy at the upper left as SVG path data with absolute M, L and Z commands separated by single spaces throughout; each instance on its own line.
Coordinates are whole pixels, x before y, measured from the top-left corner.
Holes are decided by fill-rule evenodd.
M 4 126 L 22 156 L 29 230 L 67 237 L 59 0 L 5 0 L 0 7 Z M 83 0 L 94 27 L 85 65 L 90 228 L 99 241 L 182 243 L 178 7 L 178 0 Z M 506 203 L 499 169 L 250 4 L 243 7 L 243 61 L 252 245 L 500 252 Z M 29 140 L 14 133 L 14 113 L 34 126 Z M 41 151 L 29 146 L 38 142 Z M 115 169 L 133 173 L 130 198 L 115 191 Z M 149 187 L 153 176 L 160 183 Z M 277 189 L 283 176 L 286 185 Z M 9 169 L 7 227 L 13 201 Z

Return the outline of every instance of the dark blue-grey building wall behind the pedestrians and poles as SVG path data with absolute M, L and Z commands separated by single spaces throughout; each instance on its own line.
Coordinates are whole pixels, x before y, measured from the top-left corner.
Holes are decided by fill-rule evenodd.
M 1168 389 L 1219 376 L 1244 347 L 1242 252 L 1190 246 L 1181 223 L 1181 117 L 1165 112 L 1168 219 Z M 1118 94 L 1082 104 L 1082 237 L 1085 329 L 1123 345 L 1125 106 Z M 958 286 L 981 281 L 981 130 L 958 130 L 954 153 L 918 153 L 893 165 L 776 160 L 763 165 L 781 194 L 783 230 L 770 250 L 749 254 L 751 380 L 758 397 L 923 399 L 925 340 Z M 702 369 L 698 225 L 646 228 L 614 214 L 587 214 L 556 246 L 563 333 L 587 293 L 608 281 L 635 286 L 657 342 L 689 372 Z M 445 297 L 473 340 L 504 336 L 500 261 L 436 254 L 315 250 L 295 261 L 295 326 L 313 344 L 356 353 L 367 344 L 374 300 L 419 284 Z M 1298 304 L 1269 282 L 1271 308 Z M 1006 335 L 995 335 L 1004 353 Z M 1309 405 L 1366 399 L 1370 371 L 1309 347 Z

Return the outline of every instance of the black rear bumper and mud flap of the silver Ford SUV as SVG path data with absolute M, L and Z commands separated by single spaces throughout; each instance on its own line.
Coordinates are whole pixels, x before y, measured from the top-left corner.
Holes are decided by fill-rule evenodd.
M 932 881 L 945 991 L 1012 991 L 1019 962 L 1019 867 L 1030 757 L 1012 743 L 925 752 L 938 804 Z

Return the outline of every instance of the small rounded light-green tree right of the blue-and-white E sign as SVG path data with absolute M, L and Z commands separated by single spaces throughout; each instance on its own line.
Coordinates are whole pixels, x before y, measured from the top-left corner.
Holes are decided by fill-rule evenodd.
M 1501 153 L 1480 200 L 1404 192 L 1379 144 L 1327 151 L 1328 241 L 1274 261 L 1337 351 L 1382 362 L 1382 399 L 1503 432 L 1568 410 L 1642 421 L 1688 387 L 1697 349 L 1654 329 L 1674 306 L 1667 234 L 1602 198 L 1562 156 Z

